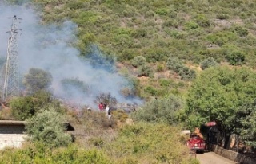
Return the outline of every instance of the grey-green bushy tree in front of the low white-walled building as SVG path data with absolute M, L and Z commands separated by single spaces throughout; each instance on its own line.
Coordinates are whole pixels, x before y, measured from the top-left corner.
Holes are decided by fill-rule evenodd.
M 46 146 L 67 146 L 72 138 L 65 133 L 65 118 L 54 107 L 38 112 L 26 119 L 26 132 L 32 142 L 41 141 Z

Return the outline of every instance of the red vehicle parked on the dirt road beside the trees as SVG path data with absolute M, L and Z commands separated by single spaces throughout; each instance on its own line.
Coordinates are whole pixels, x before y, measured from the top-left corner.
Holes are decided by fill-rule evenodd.
M 205 140 L 202 139 L 199 135 L 190 134 L 190 139 L 187 141 L 186 144 L 190 147 L 190 150 L 204 153 L 206 143 Z

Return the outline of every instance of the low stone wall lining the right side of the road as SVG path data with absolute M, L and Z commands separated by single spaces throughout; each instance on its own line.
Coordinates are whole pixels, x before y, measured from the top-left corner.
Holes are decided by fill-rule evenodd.
M 220 146 L 212 145 L 210 146 L 210 150 L 214 151 L 216 154 L 221 155 L 222 157 L 229 158 L 234 162 L 238 162 L 239 164 L 255 164 L 256 160 L 254 158 L 247 157 L 246 155 L 239 154 L 232 150 L 223 149 Z

